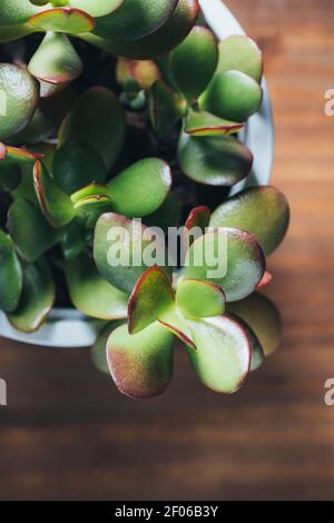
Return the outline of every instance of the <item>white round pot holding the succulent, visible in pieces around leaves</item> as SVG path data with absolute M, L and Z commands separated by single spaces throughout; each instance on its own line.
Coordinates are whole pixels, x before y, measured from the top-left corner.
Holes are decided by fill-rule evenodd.
M 203 14 L 212 30 L 222 40 L 230 34 L 245 34 L 222 0 L 199 0 Z M 265 79 L 261 110 L 249 118 L 242 139 L 254 154 L 254 167 L 245 181 L 237 184 L 232 194 L 245 186 L 266 185 L 271 181 L 274 156 L 274 126 L 271 101 Z M 0 313 L 0 335 L 22 343 L 48 347 L 71 348 L 92 345 L 101 323 L 82 316 L 75 309 L 55 309 L 48 322 L 37 332 L 24 334 L 16 330 Z

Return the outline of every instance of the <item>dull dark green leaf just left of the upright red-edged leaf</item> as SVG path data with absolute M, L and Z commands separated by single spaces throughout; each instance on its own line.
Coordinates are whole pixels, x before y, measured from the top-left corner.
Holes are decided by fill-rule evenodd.
M 35 205 L 23 199 L 10 206 L 7 227 L 20 255 L 30 263 L 59 240 L 59 231 L 47 223 Z

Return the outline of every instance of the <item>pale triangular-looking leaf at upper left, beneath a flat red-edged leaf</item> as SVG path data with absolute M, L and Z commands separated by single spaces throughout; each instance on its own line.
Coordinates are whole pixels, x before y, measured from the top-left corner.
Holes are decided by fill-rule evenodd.
M 82 61 L 70 40 L 59 32 L 47 32 L 28 69 L 39 80 L 67 83 L 82 72 Z

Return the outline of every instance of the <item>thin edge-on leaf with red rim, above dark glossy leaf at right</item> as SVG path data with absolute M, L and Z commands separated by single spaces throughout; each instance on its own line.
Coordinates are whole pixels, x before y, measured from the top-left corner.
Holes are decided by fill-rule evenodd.
M 185 132 L 191 136 L 219 136 L 239 132 L 244 125 L 223 120 L 209 112 L 190 110 L 185 125 Z

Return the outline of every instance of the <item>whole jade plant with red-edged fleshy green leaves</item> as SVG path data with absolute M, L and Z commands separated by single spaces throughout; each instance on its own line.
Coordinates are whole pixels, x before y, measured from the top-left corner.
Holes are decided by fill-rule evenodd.
M 252 172 L 257 45 L 218 41 L 197 0 L 2 0 L 0 42 L 0 309 L 24 333 L 57 306 L 98 320 L 92 361 L 131 397 L 166 389 L 179 345 L 237 391 L 279 345 L 259 290 L 288 226 L 276 188 L 229 196 Z

